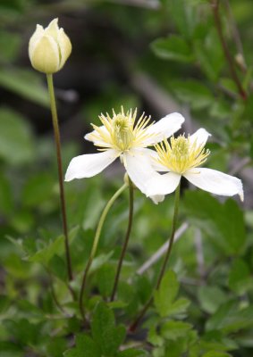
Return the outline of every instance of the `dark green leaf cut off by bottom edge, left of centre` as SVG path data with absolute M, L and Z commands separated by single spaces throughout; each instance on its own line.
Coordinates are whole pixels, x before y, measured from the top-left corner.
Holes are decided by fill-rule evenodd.
M 64 357 L 101 357 L 99 346 L 87 335 L 76 336 L 76 346 L 63 353 Z

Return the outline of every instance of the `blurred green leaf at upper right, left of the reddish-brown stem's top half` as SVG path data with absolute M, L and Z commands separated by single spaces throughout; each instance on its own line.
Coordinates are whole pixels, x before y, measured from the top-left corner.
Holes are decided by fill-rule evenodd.
M 192 62 L 193 57 L 190 46 L 179 36 L 171 36 L 168 38 L 158 38 L 151 44 L 154 53 L 166 60 L 174 60 L 178 62 Z

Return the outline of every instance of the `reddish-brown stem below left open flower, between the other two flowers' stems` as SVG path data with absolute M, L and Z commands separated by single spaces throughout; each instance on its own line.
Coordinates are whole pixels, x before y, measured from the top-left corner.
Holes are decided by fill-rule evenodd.
M 116 294 L 116 290 L 117 290 L 117 286 L 119 283 L 119 278 L 120 278 L 120 274 L 121 274 L 121 270 L 122 270 L 122 262 L 127 250 L 127 246 L 128 246 L 128 242 L 129 242 L 129 238 L 130 238 L 130 234 L 131 234 L 131 226 L 132 226 L 132 213 L 133 213 L 133 186 L 132 186 L 132 182 L 131 179 L 128 178 L 129 180 L 129 219 L 128 219 L 128 228 L 126 231 L 126 235 L 125 235 L 125 239 L 124 239 L 124 243 L 122 246 L 122 253 L 118 262 L 118 267 L 117 267 L 117 271 L 116 271 L 116 276 L 114 279 L 114 288 L 113 288 L 113 293 L 111 295 L 111 302 L 114 301 L 114 297 Z

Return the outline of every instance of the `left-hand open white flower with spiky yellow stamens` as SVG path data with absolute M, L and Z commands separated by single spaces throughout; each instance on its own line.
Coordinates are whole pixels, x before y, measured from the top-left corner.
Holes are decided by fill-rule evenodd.
M 104 170 L 110 163 L 120 157 L 131 181 L 139 190 L 146 194 L 146 182 L 152 175 L 158 175 L 151 165 L 154 151 L 147 148 L 155 145 L 166 137 L 173 135 L 181 128 L 184 118 L 173 112 L 156 123 L 150 123 L 144 113 L 137 120 L 137 110 L 124 113 L 113 111 L 110 117 L 101 114 L 99 117 L 103 126 L 93 125 L 93 131 L 85 136 L 99 147 L 99 154 L 84 154 L 72 159 L 65 175 L 65 181 L 90 178 Z M 156 195 L 155 195 L 156 196 Z M 154 202 L 160 202 L 164 196 L 151 197 Z

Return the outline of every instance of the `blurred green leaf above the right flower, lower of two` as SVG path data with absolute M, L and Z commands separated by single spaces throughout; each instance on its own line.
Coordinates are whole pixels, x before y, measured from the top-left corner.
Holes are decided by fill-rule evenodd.
M 173 92 L 193 109 L 204 109 L 214 103 L 214 96 L 208 87 L 197 80 L 173 81 Z

